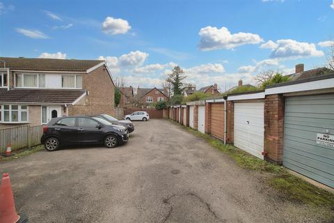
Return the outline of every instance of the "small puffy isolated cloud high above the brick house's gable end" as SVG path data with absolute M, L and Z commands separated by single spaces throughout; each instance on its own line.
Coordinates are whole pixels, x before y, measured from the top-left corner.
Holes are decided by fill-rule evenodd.
M 113 17 L 106 17 L 102 24 L 102 31 L 109 35 L 125 34 L 131 29 L 129 22 L 122 19 L 114 19 Z

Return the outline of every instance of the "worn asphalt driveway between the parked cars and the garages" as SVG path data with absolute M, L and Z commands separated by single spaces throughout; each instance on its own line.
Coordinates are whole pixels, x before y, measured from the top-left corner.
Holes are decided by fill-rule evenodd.
M 165 120 L 125 146 L 63 148 L 0 163 L 29 222 L 317 222 L 228 155 Z

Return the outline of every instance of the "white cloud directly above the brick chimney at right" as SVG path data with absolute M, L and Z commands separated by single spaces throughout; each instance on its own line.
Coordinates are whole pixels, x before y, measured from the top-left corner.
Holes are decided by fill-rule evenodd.
M 267 42 L 268 43 L 268 42 Z M 287 59 L 308 56 L 324 56 L 324 52 L 317 50 L 314 43 L 298 42 L 296 40 L 277 40 L 272 45 L 271 58 Z

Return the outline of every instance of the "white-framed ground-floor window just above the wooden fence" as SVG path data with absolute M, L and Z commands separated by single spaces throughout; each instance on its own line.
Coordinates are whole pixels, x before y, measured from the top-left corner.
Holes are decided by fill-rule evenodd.
M 28 121 L 28 107 L 26 105 L 1 105 L 2 123 L 22 123 Z

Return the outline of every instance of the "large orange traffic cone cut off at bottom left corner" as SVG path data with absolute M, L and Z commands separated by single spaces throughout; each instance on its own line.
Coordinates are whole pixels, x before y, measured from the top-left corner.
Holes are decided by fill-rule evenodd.
M 0 186 L 0 223 L 15 223 L 18 221 L 19 215 L 17 215 L 15 209 L 9 174 L 3 174 Z

